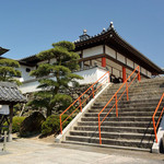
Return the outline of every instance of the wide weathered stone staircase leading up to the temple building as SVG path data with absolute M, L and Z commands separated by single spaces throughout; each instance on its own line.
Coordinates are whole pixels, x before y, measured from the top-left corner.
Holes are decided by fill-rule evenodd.
M 97 114 L 119 86 L 120 84 L 109 86 L 62 142 L 99 145 Z M 132 83 L 129 87 L 129 102 L 125 94 L 118 103 L 118 117 L 114 108 L 101 126 L 101 147 L 151 151 L 154 140 L 152 116 L 163 92 L 164 78 Z M 121 93 L 118 94 L 118 97 Z M 113 104 L 109 104 L 101 114 L 101 120 Z M 162 104 L 164 105 L 164 102 Z M 159 115 L 160 113 L 156 114 L 155 119 L 159 118 Z

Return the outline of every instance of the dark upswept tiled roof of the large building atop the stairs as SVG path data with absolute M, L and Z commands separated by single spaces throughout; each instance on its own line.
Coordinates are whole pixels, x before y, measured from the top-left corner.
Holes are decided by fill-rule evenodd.
M 147 68 L 148 70 L 154 73 L 163 72 L 163 70 L 159 66 L 156 66 L 154 62 L 148 59 L 143 54 L 137 50 L 122 37 L 120 37 L 114 28 L 113 24 L 110 24 L 110 26 L 107 30 L 104 28 L 103 32 L 97 35 L 87 35 L 87 37 L 81 38 L 82 39 L 78 39 L 74 42 L 77 51 L 97 45 L 108 45 L 117 51 L 125 54 L 125 56 L 127 56 L 129 59 L 134 59 L 136 61 L 141 63 L 141 67 Z

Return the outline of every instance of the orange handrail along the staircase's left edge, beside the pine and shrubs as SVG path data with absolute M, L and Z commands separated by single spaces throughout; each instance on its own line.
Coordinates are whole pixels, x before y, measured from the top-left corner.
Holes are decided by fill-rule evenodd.
M 105 81 L 104 81 L 104 79 L 103 78 L 105 78 L 105 75 L 108 75 L 108 78 L 106 78 L 105 79 Z M 103 81 L 103 82 L 101 82 L 101 81 Z M 95 83 L 93 83 L 85 92 L 83 92 L 62 114 L 60 114 L 60 132 L 61 132 L 61 134 L 62 134 L 62 125 L 68 120 L 68 118 L 72 115 L 72 114 L 74 114 L 77 110 L 78 110 L 78 108 L 80 108 L 80 110 L 82 112 L 82 108 L 83 108 L 83 104 L 91 97 L 91 95 L 93 96 L 93 98 L 94 98 L 94 96 L 95 96 L 95 92 L 104 84 L 104 82 L 109 82 L 109 71 L 107 71 L 104 75 L 102 75 Z M 99 84 L 101 83 L 101 84 Z M 96 87 L 95 90 L 94 90 L 94 87 Z M 92 92 L 91 93 L 89 93 L 89 96 L 86 97 L 86 98 L 84 98 L 84 99 L 82 99 L 82 96 L 85 94 L 85 93 L 87 93 L 87 92 L 90 92 L 92 90 Z M 78 103 L 78 106 L 75 106 L 75 109 L 65 119 L 65 120 L 62 120 L 61 119 L 61 117 L 62 117 L 62 115 L 66 113 L 66 112 L 68 112 L 71 107 L 73 107 L 74 105 L 75 105 L 75 103 Z

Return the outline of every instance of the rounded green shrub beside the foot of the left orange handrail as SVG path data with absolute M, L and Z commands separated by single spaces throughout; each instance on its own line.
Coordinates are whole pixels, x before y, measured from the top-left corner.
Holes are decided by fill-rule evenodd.
M 62 120 L 65 120 L 68 115 L 62 115 Z M 72 120 L 72 117 L 69 117 L 68 120 L 62 125 L 62 129 Z M 59 133 L 60 131 L 60 120 L 59 116 L 51 115 L 42 125 L 42 136 L 48 136 L 51 133 Z

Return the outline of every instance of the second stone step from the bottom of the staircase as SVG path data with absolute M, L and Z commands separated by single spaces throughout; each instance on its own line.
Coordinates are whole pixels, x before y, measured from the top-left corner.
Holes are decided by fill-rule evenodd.
M 72 130 L 70 131 L 70 136 L 79 136 L 79 137 L 94 137 L 98 138 L 99 132 L 98 131 L 78 131 L 78 130 Z M 107 138 L 107 139 L 129 139 L 129 140 L 149 140 L 153 141 L 155 136 L 154 134 L 142 134 L 142 133 L 130 133 L 130 132 L 101 132 L 102 138 Z

